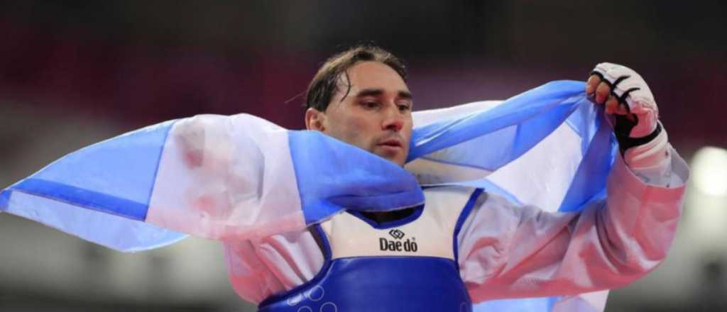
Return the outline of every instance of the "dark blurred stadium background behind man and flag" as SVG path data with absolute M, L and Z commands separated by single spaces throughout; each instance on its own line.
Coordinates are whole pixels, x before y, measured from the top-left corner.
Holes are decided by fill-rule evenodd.
M 150 123 L 246 112 L 301 128 L 326 57 L 374 42 L 416 108 L 505 99 L 598 62 L 637 70 L 691 162 L 669 258 L 606 311 L 727 308 L 723 1 L 1 1 L 0 186 Z M 122 254 L 0 215 L 0 311 L 254 311 L 201 239 Z

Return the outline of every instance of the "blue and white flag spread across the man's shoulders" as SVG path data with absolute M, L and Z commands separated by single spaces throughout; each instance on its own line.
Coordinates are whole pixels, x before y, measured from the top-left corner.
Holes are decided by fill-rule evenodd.
M 423 202 L 459 184 L 551 211 L 605 196 L 616 143 L 585 84 L 555 81 L 504 102 L 414 112 L 405 168 L 315 131 L 252 115 L 198 115 L 73 152 L 0 192 L 0 212 L 133 252 L 195 235 L 252 239 L 348 210 Z M 601 311 L 607 292 L 497 300 L 475 311 Z

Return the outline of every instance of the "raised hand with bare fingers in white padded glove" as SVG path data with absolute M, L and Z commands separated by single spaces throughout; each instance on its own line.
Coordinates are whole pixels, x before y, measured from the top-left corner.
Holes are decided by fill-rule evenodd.
M 649 136 L 656 130 L 659 110 L 646 81 L 629 67 L 612 63 L 596 65 L 586 83 L 586 94 L 616 115 L 616 129 L 631 138 Z M 620 124 L 619 124 L 620 123 Z

